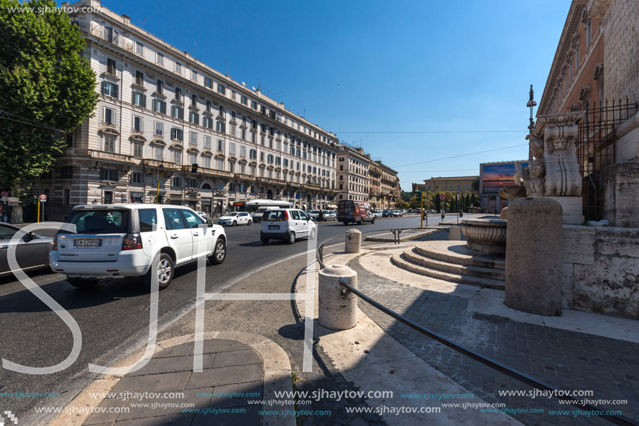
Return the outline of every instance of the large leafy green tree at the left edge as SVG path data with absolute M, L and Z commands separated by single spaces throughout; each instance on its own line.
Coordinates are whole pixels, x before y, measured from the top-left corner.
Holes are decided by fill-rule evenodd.
M 10 12 L 9 8 L 15 8 Z M 42 13 L 36 13 L 42 11 Z M 55 1 L 0 0 L 0 180 L 21 199 L 98 103 L 85 42 Z M 22 208 L 13 209 L 22 222 Z

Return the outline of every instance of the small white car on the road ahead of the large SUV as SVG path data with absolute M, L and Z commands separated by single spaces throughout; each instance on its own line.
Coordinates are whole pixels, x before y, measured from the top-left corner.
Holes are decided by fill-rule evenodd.
M 277 208 L 268 210 L 262 216 L 260 240 L 268 244 L 270 240 L 284 240 L 289 244 L 298 238 L 315 239 L 317 225 L 305 211 L 298 208 Z

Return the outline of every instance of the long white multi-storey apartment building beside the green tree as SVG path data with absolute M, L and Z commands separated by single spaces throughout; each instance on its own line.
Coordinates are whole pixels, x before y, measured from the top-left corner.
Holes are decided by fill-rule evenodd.
M 78 204 L 153 203 L 156 194 L 206 213 L 258 198 L 307 209 L 332 204 L 336 135 L 99 0 L 70 6 L 95 10 L 70 18 L 86 39 L 83 56 L 100 99 L 95 114 L 66 135 L 51 172 L 33 181 L 35 193 L 49 196 L 47 219 L 61 220 Z M 367 192 L 364 178 L 359 196 Z

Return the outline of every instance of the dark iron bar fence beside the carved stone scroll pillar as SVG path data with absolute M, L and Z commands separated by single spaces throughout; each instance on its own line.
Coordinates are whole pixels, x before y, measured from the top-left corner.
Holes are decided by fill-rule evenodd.
M 616 160 L 615 129 L 637 112 L 638 102 L 606 100 L 606 105 L 587 109 L 578 123 L 576 141 L 579 171 L 583 176 L 583 215 L 585 220 L 603 219 L 604 197 L 601 171 Z

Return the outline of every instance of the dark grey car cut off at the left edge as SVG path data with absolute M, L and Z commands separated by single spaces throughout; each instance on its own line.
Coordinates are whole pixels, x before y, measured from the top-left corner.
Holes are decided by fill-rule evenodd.
M 0 222 L 0 277 L 13 275 L 9 268 L 8 251 L 11 248 L 11 238 L 20 228 L 15 225 Z M 24 234 L 15 244 L 15 259 L 22 271 L 34 271 L 49 267 L 49 252 L 53 247 L 53 238 L 40 236 L 29 232 Z

